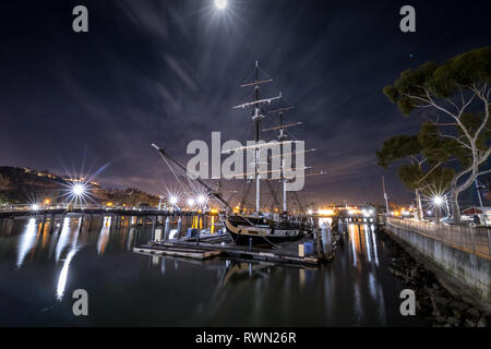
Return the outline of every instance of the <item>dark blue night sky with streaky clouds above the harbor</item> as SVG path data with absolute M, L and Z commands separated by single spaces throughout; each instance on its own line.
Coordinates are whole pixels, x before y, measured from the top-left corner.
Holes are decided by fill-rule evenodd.
M 89 32 L 72 31 L 84 4 Z M 399 9 L 417 32 L 399 31 Z M 251 137 L 251 99 L 240 84 L 259 60 L 296 107 L 288 121 L 314 170 L 304 195 L 323 202 L 410 200 L 375 151 L 421 119 L 405 119 L 382 94 L 429 60 L 491 44 L 491 1 L 213 0 L 2 1 L 0 166 L 94 173 L 109 186 L 160 194 L 172 177 L 155 142 L 185 159 L 192 140 Z M 272 124 L 272 120 L 266 120 Z M 224 137 L 226 137 L 224 140 Z

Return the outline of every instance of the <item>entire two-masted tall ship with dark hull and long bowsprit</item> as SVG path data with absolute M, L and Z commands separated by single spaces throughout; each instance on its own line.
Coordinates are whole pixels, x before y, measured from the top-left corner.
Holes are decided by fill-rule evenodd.
M 263 98 L 261 96 L 261 86 L 271 82 L 273 82 L 272 79 L 260 80 L 259 63 L 255 62 L 254 81 L 241 85 L 241 87 L 253 88 L 253 100 L 233 107 L 233 109 L 252 109 L 251 120 L 254 130 L 254 145 L 242 146 L 238 149 L 230 149 L 228 152 L 232 151 L 254 152 L 254 163 L 251 164 L 253 165 L 253 173 L 244 173 L 244 174 L 253 174 L 252 179 L 251 178 L 249 180 L 244 179 L 247 181 L 244 185 L 249 185 L 250 188 L 252 184 L 255 184 L 253 185 L 255 190 L 254 212 L 247 213 L 244 210 L 241 210 L 242 207 L 233 206 L 230 202 L 225 200 L 224 195 L 219 192 L 219 190 L 213 190 L 209 184 L 205 183 L 200 178 L 194 179 L 194 181 L 200 183 L 206 190 L 207 195 L 213 197 L 220 205 L 221 207 L 219 214 L 220 220 L 227 233 L 230 234 L 231 239 L 236 244 L 275 245 L 275 243 L 300 239 L 304 234 L 312 231 L 313 228 L 311 219 L 309 219 L 303 212 L 297 192 L 294 192 L 294 195 L 296 196 L 298 205 L 300 206 L 300 214 L 297 212 L 296 215 L 291 215 L 288 212 L 287 183 L 290 179 L 288 179 L 287 176 L 286 157 L 291 158 L 292 155 L 298 154 L 297 148 L 295 148 L 294 152 L 289 151 L 291 149 L 291 144 L 296 143 L 297 141 L 288 140 L 290 137 L 288 129 L 296 125 L 300 125 L 301 122 L 295 123 L 285 122 L 285 115 L 287 111 L 291 110 L 292 107 L 284 106 L 283 103 L 284 98 L 282 96 L 282 93 L 279 93 L 278 96 L 271 98 Z M 270 106 L 273 101 L 278 101 L 279 107 L 274 110 L 268 111 L 265 110 L 265 107 Z M 261 129 L 262 120 L 265 118 L 266 113 L 274 116 L 275 120 L 277 118 L 278 124 L 273 128 L 262 130 Z M 272 168 L 271 171 L 268 170 L 264 171 L 264 167 L 262 166 L 264 165 L 262 164 L 262 161 L 264 163 L 264 159 L 266 159 L 268 163 L 272 161 L 271 158 L 272 155 L 267 154 L 265 156 L 264 154 L 261 154 L 261 152 L 267 152 L 268 145 L 273 144 L 273 143 L 264 143 L 264 141 L 261 140 L 261 132 L 265 131 L 277 132 L 276 135 L 277 141 L 275 140 L 274 145 L 279 146 L 280 168 L 278 170 L 274 170 Z M 287 144 L 289 144 L 288 147 L 286 147 Z M 161 149 L 155 144 L 153 144 L 153 146 L 160 153 L 161 157 L 165 159 L 167 165 L 171 163 L 179 169 L 181 169 L 181 171 L 184 172 L 187 171 L 184 165 L 182 165 L 179 160 L 171 157 L 165 149 Z M 301 153 L 312 151 L 315 149 L 301 151 Z M 291 160 L 289 163 L 290 163 L 289 165 L 291 166 Z M 304 171 L 307 169 L 309 168 L 304 167 L 302 170 Z M 276 176 L 277 179 L 268 179 L 267 174 L 274 171 L 279 172 L 279 178 L 277 178 L 278 176 Z M 324 173 L 323 171 L 321 171 L 320 173 L 310 173 L 310 174 L 303 173 L 302 176 L 307 177 L 316 174 L 324 174 Z M 271 212 L 267 210 L 263 212 L 261 206 L 261 184 L 267 183 L 271 189 L 272 181 L 278 181 L 282 188 L 280 205 L 283 210 L 275 209 L 278 210 L 275 212 L 271 209 Z M 247 194 L 243 195 L 242 203 L 246 201 L 246 196 L 248 194 L 249 190 L 247 191 Z M 276 195 L 273 192 L 271 192 L 271 194 L 274 195 L 275 196 L 274 200 L 278 202 L 277 198 L 278 195 Z

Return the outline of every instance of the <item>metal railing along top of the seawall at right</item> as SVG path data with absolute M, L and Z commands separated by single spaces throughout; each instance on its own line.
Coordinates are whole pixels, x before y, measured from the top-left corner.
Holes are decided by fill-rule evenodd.
M 465 226 L 386 218 L 388 226 L 417 232 L 438 240 L 454 249 L 470 252 L 487 258 L 491 257 L 491 229 Z

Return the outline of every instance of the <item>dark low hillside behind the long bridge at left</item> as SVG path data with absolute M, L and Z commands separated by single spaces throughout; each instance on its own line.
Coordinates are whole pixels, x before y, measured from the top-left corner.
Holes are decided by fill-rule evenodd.
M 25 204 L 49 200 L 62 203 L 67 200 L 70 179 L 31 168 L 0 167 L 0 204 Z M 115 206 L 156 206 L 158 197 L 137 189 L 104 189 L 96 182 L 87 184 L 92 200 L 89 203 Z

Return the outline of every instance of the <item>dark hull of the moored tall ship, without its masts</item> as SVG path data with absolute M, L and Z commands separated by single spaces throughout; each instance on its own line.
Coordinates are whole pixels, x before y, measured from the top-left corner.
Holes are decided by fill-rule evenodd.
M 266 218 L 231 216 L 225 218 L 224 224 L 235 243 L 241 245 L 295 241 L 308 232 L 301 222 L 276 222 Z

